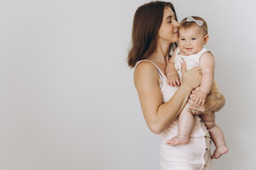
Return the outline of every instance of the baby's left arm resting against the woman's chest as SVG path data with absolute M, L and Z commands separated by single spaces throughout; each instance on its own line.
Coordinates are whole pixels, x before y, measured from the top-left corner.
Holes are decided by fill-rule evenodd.
M 176 86 L 176 85 L 180 86 L 181 81 L 175 69 L 175 54 L 176 54 L 176 49 L 174 50 L 174 55 L 171 56 L 171 59 L 169 60 L 166 66 L 166 77 L 168 78 L 167 84 L 171 86 Z

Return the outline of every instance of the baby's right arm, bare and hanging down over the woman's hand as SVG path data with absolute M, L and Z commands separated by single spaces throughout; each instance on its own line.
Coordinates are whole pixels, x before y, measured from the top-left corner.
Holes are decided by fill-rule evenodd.
M 196 92 L 193 100 L 196 102 L 196 105 L 203 106 L 206 102 L 206 97 L 210 94 L 210 91 L 213 86 L 214 79 L 214 67 L 215 61 L 214 57 L 210 52 L 205 52 L 200 57 L 199 66 L 202 70 L 202 80 L 199 90 Z

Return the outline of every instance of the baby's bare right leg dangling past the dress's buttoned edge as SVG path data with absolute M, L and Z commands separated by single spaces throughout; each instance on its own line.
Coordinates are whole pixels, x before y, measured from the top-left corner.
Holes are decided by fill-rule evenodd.
M 201 118 L 203 119 L 206 128 L 209 130 L 210 138 L 213 140 L 216 147 L 211 158 L 218 159 L 221 155 L 228 152 L 228 147 L 225 145 L 223 131 L 218 127 L 218 125 L 215 125 L 215 113 L 210 115 L 201 115 Z

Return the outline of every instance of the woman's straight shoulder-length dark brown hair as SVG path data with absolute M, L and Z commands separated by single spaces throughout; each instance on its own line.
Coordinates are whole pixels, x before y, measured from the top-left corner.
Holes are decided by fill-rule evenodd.
M 127 62 L 134 67 L 139 60 L 144 60 L 156 50 L 156 38 L 164 17 L 164 8 L 169 6 L 176 16 L 173 4 L 165 1 L 152 1 L 137 8 L 132 26 L 132 47 Z M 177 18 L 175 18 L 177 21 Z M 169 51 L 177 47 L 172 42 Z

